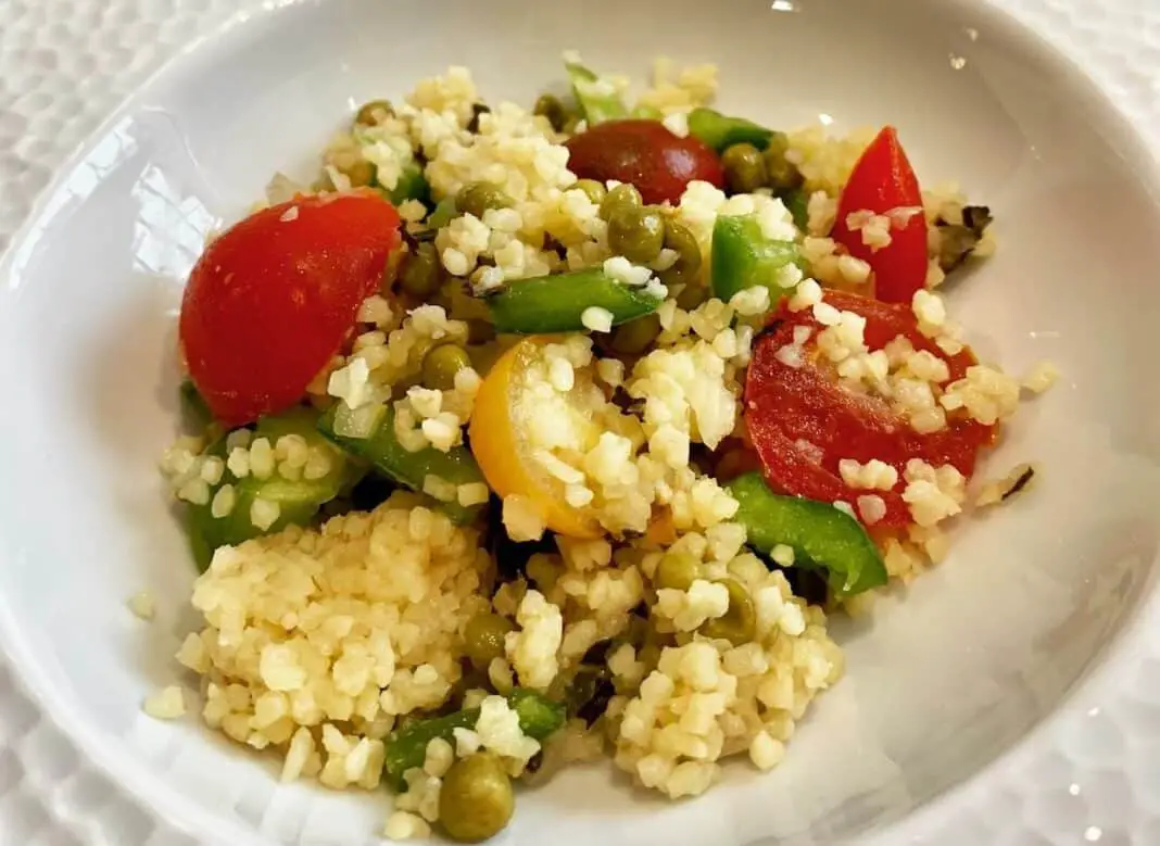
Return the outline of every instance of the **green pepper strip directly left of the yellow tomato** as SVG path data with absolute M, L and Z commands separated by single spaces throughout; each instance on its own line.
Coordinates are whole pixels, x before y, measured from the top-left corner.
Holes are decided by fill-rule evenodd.
M 466 485 L 484 482 L 476 460 L 466 447 L 454 447 L 442 453 L 435 447 L 407 451 L 394 434 L 394 407 L 383 406 L 378 425 L 367 438 L 349 438 L 338 434 L 334 418 L 338 405 L 332 406 L 318 421 L 318 429 L 328 440 L 340 446 L 351 455 L 370 462 L 377 471 L 394 479 L 412 491 L 422 492 L 423 482 L 428 476 L 437 476 L 454 485 Z M 438 507 L 457 523 L 467 523 L 476 519 L 483 505 L 465 508 L 458 502 L 440 502 Z

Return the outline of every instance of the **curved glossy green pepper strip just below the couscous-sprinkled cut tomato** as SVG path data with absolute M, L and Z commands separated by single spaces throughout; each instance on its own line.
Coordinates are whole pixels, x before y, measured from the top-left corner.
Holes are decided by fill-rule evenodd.
M 846 512 L 829 502 L 774 493 L 756 471 L 738 476 L 725 489 L 739 504 L 733 519 L 745 526 L 748 544 L 759 552 L 769 555 L 777 544 L 792 547 L 796 561 L 826 570 L 839 599 L 886 584 L 882 554 Z

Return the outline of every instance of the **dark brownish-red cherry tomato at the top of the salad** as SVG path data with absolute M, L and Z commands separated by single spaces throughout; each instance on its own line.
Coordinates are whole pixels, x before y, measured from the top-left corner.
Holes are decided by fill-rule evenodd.
M 725 185 L 720 159 L 689 136 L 681 138 L 658 121 L 608 121 L 568 140 L 568 169 L 580 179 L 631 182 L 646 203 L 674 205 L 689 182 Z

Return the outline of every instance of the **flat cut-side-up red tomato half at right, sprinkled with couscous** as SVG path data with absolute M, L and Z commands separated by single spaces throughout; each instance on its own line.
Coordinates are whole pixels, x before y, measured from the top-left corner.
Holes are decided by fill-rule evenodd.
M 825 299 L 867 319 L 865 341 L 871 349 L 905 335 L 915 349 L 926 349 L 945 361 L 950 381 L 960 378 L 976 363 L 969 349 L 957 355 L 938 349 L 919 332 L 908 306 L 839 291 L 827 291 Z M 995 439 L 994 426 L 954 419 L 945 429 L 915 432 L 880 398 L 855 395 L 838 385 L 810 356 L 799 368 L 778 361 L 775 354 L 792 341 L 796 326 L 810 326 L 814 335 L 821 328 L 810 311 L 795 313 L 783 306 L 754 342 L 746 376 L 746 427 L 766 479 L 775 490 L 826 502 L 842 500 L 851 506 L 860 496 L 876 494 L 886 504 L 886 516 L 876 526 L 901 527 L 911 522 L 909 508 L 901 498 L 907 461 L 952 464 L 964 476 L 971 476 L 979 449 Z M 809 441 L 810 448 L 799 446 L 800 441 Z M 842 458 L 884 461 L 898 470 L 899 484 L 893 491 L 848 487 L 838 470 Z

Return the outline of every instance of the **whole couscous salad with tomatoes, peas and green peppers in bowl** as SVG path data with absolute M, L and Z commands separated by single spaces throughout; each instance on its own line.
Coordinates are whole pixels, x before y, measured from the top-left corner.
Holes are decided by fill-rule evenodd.
M 672 798 L 777 766 L 843 672 L 827 613 L 1028 484 L 972 475 L 1056 377 L 966 346 L 937 288 L 991 212 L 922 191 L 892 128 L 769 130 L 667 62 L 630 107 L 565 65 L 532 109 L 462 67 L 368 103 L 182 308 L 177 660 L 283 780 L 389 788 L 392 839 L 485 839 L 601 755 Z

